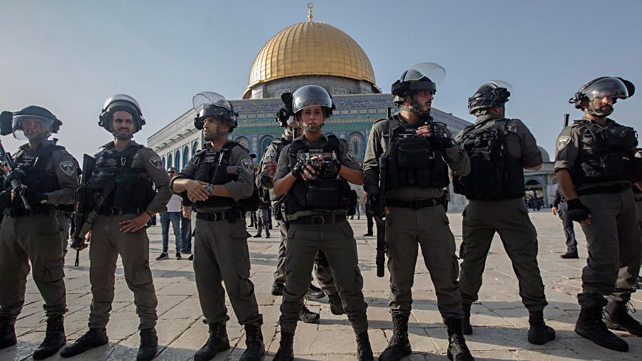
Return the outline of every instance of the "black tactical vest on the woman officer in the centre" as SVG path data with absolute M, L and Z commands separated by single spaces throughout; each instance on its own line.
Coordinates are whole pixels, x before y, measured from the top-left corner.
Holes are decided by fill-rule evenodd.
M 290 164 L 297 164 L 299 157 L 307 157 L 310 152 L 332 153 L 341 159 L 341 147 L 335 135 L 327 135 L 327 143 L 322 148 L 312 148 L 301 139 L 292 142 L 290 146 Z M 341 177 L 332 179 L 297 179 L 287 192 L 285 211 L 293 214 L 297 211 L 315 209 L 350 209 L 352 192 L 350 184 Z M 356 200 L 356 197 L 355 197 Z M 356 202 L 355 202 L 356 204 Z M 354 208 L 354 206 L 352 206 Z

